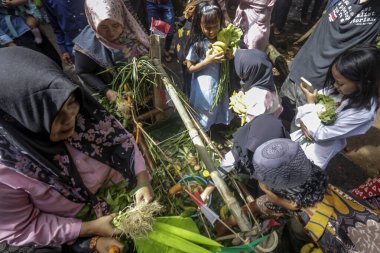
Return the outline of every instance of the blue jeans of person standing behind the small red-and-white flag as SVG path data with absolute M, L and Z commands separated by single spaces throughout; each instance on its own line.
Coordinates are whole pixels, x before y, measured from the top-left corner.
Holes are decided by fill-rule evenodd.
M 152 18 L 159 19 L 165 21 L 170 25 L 170 30 L 165 39 L 164 49 L 168 51 L 170 49 L 170 45 L 173 40 L 174 35 L 174 9 L 171 0 L 167 0 L 164 3 L 156 4 L 152 2 L 146 2 L 146 12 L 148 16 L 148 25 L 150 27 L 150 23 Z

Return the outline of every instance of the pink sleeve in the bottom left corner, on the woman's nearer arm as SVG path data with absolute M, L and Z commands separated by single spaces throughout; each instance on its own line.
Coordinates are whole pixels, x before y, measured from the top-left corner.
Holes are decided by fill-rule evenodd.
M 61 245 L 79 236 L 81 221 L 41 212 L 22 189 L 0 183 L 0 241 L 11 245 Z

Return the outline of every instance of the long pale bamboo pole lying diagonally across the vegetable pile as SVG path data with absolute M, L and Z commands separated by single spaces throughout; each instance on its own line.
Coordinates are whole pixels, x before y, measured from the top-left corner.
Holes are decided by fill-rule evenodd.
M 153 63 L 156 65 L 157 70 L 161 73 L 162 83 L 165 85 L 165 88 L 170 98 L 172 99 L 172 102 L 175 108 L 177 109 L 179 116 L 181 117 L 183 123 L 185 124 L 186 129 L 189 131 L 190 138 L 195 148 L 199 152 L 199 155 L 201 159 L 203 160 L 207 170 L 210 172 L 211 179 L 213 180 L 216 188 L 218 189 L 220 195 L 222 196 L 229 210 L 235 216 L 240 230 L 241 231 L 251 230 L 252 226 L 247 216 L 244 214 L 242 208 L 240 207 L 235 197 L 233 197 L 231 191 L 228 189 L 227 184 L 224 182 L 218 170 L 216 170 L 213 164 L 213 161 L 210 158 L 201 137 L 199 136 L 197 129 L 194 127 L 193 122 L 191 121 L 191 118 L 189 117 L 186 109 L 182 105 L 181 100 L 179 99 L 177 95 L 177 91 L 173 87 L 171 79 L 167 76 L 159 60 L 153 59 Z

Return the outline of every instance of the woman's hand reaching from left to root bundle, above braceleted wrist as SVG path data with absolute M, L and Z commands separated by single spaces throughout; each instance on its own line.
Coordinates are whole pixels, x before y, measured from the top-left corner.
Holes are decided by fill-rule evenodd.
M 100 217 L 96 220 L 83 222 L 80 228 L 79 236 L 87 237 L 87 236 L 104 236 L 111 237 L 114 235 L 121 234 L 121 231 L 116 229 L 112 225 L 112 219 L 115 218 L 116 214 L 111 214 L 107 216 Z

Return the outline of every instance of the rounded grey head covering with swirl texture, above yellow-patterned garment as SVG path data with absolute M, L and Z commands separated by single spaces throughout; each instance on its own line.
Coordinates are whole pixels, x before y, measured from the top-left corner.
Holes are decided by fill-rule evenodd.
M 313 164 L 301 146 L 289 139 L 273 139 L 260 145 L 253 155 L 253 177 L 270 189 L 281 190 L 304 184 Z

